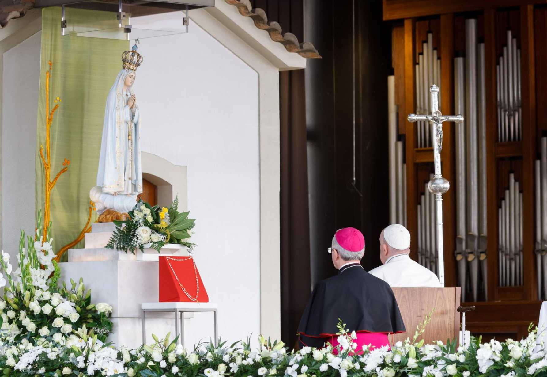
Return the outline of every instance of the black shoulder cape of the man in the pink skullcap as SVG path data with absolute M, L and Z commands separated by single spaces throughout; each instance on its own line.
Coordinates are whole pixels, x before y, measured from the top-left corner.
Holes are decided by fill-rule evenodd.
M 325 337 L 339 331 L 338 318 L 350 332 L 406 331 L 391 287 L 358 263 L 317 283 L 298 326 L 299 345 L 322 347 Z

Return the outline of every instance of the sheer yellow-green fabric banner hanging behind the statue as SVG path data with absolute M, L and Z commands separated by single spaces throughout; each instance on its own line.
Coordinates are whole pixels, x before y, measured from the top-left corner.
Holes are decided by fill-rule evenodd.
M 117 27 L 113 13 L 67 9 L 69 25 L 97 29 Z M 36 153 L 36 211 L 44 211 L 45 173 L 39 154 L 46 156 L 46 72 L 50 69 L 49 108 L 59 104 L 51 123 L 50 181 L 69 160 L 68 170 L 51 191 L 51 237 L 57 252 L 82 231 L 89 214 L 89 190 L 95 186 L 101 149 L 104 105 L 121 69 L 121 53 L 129 41 L 61 36 L 61 8 L 42 11 L 42 52 Z M 57 101 L 60 98 L 60 102 Z M 63 165 L 63 163 L 65 165 Z M 92 222 L 96 214 L 93 213 Z M 83 247 L 74 246 L 74 247 Z

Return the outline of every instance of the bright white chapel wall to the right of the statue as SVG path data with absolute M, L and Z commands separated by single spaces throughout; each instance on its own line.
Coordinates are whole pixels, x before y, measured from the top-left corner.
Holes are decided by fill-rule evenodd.
M 146 18 L 160 20 L 181 25 L 182 15 Z M 219 334 L 245 339 L 260 331 L 258 75 L 193 22 L 189 29 L 139 45 L 142 150 L 187 166 L 194 256 L 218 303 Z M 212 337 L 208 316 L 187 321 L 187 345 Z

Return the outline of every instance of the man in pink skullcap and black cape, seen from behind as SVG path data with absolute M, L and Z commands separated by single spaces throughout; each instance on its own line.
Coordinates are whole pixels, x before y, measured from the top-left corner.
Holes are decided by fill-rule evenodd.
M 360 264 L 365 253 L 363 234 L 355 228 L 336 231 L 328 249 L 336 276 L 320 281 L 311 295 L 298 327 L 299 345 L 337 345 L 339 319 L 357 333 L 357 351 L 363 345 L 389 346 L 388 334 L 405 326 L 389 285 L 366 272 Z

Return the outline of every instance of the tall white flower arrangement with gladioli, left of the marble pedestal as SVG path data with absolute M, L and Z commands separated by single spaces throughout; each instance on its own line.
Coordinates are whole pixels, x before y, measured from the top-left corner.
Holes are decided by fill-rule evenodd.
M 38 239 L 41 233 L 40 217 L 36 239 L 28 237 L 25 245 L 25 233 L 21 231 L 16 270 L 10 263 L 10 254 L 2 251 L 0 340 L 19 343 L 40 338 L 60 343 L 72 336 L 74 328 L 85 324 L 92 334 L 105 341 L 112 330 L 108 320 L 112 307 L 91 304 L 91 292 L 86 291 L 82 279 L 78 283 L 71 280 L 69 288 L 64 282 L 61 288 L 57 287 L 60 270 L 52 260 L 53 240 Z

